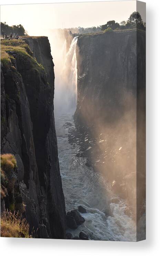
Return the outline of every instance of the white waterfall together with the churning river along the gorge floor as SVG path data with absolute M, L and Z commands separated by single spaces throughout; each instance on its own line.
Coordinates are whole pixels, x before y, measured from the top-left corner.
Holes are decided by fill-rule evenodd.
M 76 156 L 80 150 L 79 139 L 76 139 L 76 143 L 68 142 L 68 135 L 74 137 L 72 129 L 75 129 L 73 114 L 77 98 L 77 38 L 73 39 L 66 53 L 63 67 L 64 81 L 68 88 L 67 101 L 70 101 L 71 108 L 70 111 L 66 108 L 61 115 L 58 112 L 55 115 L 66 212 L 77 209 L 79 205 L 87 210 L 87 213 L 82 214 L 85 222 L 76 230 L 68 229 L 68 232 L 77 236 L 79 232 L 84 231 L 93 240 L 136 241 L 136 225 L 132 218 L 125 214 L 125 200 L 119 198 L 118 203 L 111 203 L 111 199 L 118 196 L 111 192 L 101 174 L 85 165 L 85 157 Z

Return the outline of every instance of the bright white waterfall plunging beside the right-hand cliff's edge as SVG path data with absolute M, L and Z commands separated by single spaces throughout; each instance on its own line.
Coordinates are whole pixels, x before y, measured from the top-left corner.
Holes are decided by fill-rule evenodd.
M 66 86 L 67 105 L 75 111 L 77 105 L 77 59 L 76 45 L 78 37 L 74 37 L 68 50 L 62 69 L 62 79 Z

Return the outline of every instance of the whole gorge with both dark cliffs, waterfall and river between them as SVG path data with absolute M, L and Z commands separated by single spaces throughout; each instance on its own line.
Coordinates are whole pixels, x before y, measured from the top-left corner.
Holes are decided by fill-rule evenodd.
M 22 40 L 27 54 L 10 49 L 1 70 L 1 154 L 17 159 L 15 205 L 23 201 L 41 238 L 145 239 L 145 151 L 136 144 L 145 140 L 145 32 Z M 68 228 L 66 213 L 79 206 L 85 221 Z

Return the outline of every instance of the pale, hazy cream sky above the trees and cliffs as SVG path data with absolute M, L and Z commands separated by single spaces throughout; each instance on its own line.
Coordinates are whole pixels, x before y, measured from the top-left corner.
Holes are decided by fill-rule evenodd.
M 22 24 L 30 36 L 46 35 L 55 28 L 93 27 L 108 20 L 121 22 L 136 11 L 136 1 L 3 5 L 1 22 Z M 145 13 L 140 13 L 145 20 Z

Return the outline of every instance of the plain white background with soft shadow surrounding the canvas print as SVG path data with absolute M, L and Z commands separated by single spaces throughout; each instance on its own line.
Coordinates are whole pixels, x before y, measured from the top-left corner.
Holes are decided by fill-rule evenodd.
M 0 0 L 0 4 L 79 2 L 72 0 Z M 88 0 L 88 2 L 92 2 Z M 2 255 L 158 255 L 160 244 L 160 24 L 159 0 L 146 0 L 147 26 L 147 240 L 103 242 L 0 238 Z

